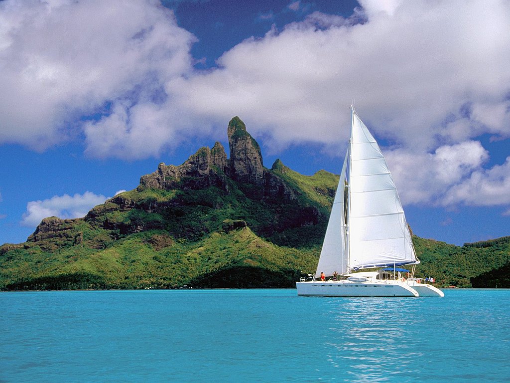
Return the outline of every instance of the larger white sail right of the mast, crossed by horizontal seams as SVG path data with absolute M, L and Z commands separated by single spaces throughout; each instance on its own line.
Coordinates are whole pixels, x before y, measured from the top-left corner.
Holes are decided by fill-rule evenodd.
M 348 269 L 418 263 L 386 160 L 356 113 L 352 130 Z

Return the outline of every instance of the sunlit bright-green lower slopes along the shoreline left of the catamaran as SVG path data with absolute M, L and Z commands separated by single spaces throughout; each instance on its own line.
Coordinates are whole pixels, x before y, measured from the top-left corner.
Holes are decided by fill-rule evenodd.
M 37 248 L 11 250 L 0 258 L 0 289 L 213 286 L 212 275 L 223 273 L 244 280 L 248 269 L 251 282 L 238 281 L 236 286 L 288 286 L 296 273 L 316 263 L 316 252 L 277 247 L 247 227 L 215 232 L 197 242 L 175 241 L 165 230 L 150 230 L 127 235 L 100 251 L 84 246 L 52 254 Z M 269 279 L 253 279 L 254 275 Z

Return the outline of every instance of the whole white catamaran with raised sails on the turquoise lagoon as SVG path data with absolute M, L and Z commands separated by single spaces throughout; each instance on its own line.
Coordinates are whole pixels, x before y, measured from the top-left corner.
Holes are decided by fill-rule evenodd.
M 296 282 L 297 294 L 443 297 L 414 277 L 419 263 L 388 164 L 351 106 L 349 146 L 317 270 Z M 381 269 L 362 271 L 374 268 Z

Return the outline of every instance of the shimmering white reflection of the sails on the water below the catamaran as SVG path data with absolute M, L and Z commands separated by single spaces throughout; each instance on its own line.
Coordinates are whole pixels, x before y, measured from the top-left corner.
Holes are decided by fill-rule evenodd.
M 337 302 L 328 313 L 332 334 L 325 346 L 336 350 L 329 361 L 346 372 L 345 381 L 387 381 L 415 374 L 423 351 L 414 344 L 409 316 L 403 314 L 413 311 L 413 305 L 406 304 L 409 300 L 367 297 Z M 402 315 L 389 316 L 391 312 Z

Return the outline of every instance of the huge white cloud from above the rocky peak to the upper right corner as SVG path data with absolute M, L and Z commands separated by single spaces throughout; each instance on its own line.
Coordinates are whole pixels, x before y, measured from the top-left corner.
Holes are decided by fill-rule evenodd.
M 363 3 L 363 25 L 324 30 L 307 19 L 247 39 L 216 70 L 166 89 L 195 125 L 239 115 L 284 145 L 344 142 L 352 99 L 376 134 L 421 153 L 488 131 L 510 136 L 505 2 L 388 2 L 384 12 L 375 4 Z

